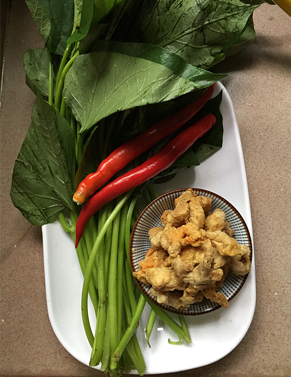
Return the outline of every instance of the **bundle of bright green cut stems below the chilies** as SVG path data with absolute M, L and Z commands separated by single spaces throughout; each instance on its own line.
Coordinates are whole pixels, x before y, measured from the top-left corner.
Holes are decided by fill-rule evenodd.
M 153 189 L 147 189 L 147 193 L 148 200 L 152 199 Z M 139 214 L 137 199 L 131 190 L 102 207 L 87 224 L 76 249 L 84 275 L 81 310 L 92 347 L 90 366 L 100 364 L 101 371 L 110 376 L 129 373 L 132 369 L 141 376 L 145 373 L 145 360 L 135 331 L 146 302 L 151 306 L 145 330 L 148 344 L 157 315 L 177 333 L 180 341 L 191 342 L 185 317 L 178 315 L 178 324 L 146 298 L 133 278 L 129 245 L 132 227 Z M 63 215 L 59 219 L 74 239 L 76 213 L 71 213 L 71 224 Z M 88 295 L 96 315 L 95 334 L 89 320 Z

